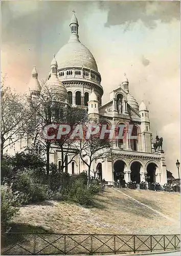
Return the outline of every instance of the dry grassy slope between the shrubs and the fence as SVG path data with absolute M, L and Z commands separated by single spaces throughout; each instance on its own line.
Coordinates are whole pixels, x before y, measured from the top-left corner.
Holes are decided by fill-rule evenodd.
M 126 195 L 151 207 L 140 204 Z M 155 210 L 155 211 L 154 211 Z M 164 216 L 160 215 L 161 212 Z M 95 207 L 48 201 L 21 207 L 12 231 L 58 233 L 179 233 L 180 195 L 167 192 L 106 188 Z

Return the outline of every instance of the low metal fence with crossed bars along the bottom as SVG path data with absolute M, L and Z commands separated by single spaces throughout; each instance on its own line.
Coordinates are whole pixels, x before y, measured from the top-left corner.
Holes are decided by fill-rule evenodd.
M 2 255 L 96 254 L 180 248 L 179 234 L 2 233 Z

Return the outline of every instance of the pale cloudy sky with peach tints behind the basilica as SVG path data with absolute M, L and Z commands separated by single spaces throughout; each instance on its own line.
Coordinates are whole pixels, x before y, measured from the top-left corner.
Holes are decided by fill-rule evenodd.
M 75 10 L 79 39 L 93 53 L 102 77 L 103 103 L 126 73 L 130 94 L 148 106 L 153 138 L 163 137 L 167 169 L 177 178 L 179 8 L 177 1 L 2 1 L 2 75 L 19 93 L 28 89 L 34 65 L 39 80 L 46 79 L 53 54 L 69 40 Z

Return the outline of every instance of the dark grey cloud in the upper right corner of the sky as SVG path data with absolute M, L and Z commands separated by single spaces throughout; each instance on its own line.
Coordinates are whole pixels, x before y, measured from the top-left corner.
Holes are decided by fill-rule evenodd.
M 108 17 L 105 27 L 123 25 L 129 28 L 132 24 L 142 22 L 154 29 L 157 22 L 170 23 L 179 20 L 179 2 L 108 2 Z

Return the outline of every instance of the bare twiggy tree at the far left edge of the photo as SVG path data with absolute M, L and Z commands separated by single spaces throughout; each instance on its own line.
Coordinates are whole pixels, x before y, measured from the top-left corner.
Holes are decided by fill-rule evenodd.
M 27 136 L 31 130 L 31 113 L 27 102 L 1 82 L 1 155 L 5 148 Z

